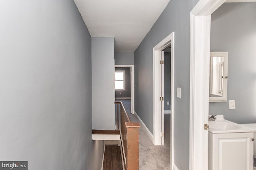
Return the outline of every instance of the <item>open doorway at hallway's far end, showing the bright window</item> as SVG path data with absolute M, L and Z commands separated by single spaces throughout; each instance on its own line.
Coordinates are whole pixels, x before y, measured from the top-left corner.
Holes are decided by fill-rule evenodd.
M 134 65 L 115 65 L 115 100 L 134 114 Z

